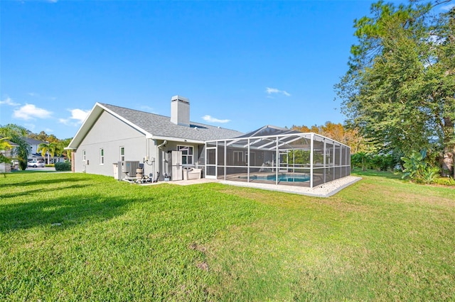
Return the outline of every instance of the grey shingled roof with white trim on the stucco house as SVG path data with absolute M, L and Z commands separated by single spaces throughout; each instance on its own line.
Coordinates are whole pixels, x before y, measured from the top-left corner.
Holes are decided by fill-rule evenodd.
M 159 140 L 177 140 L 188 142 L 203 143 L 207 140 L 221 140 L 224 138 L 235 138 L 243 133 L 220 128 L 213 125 L 190 122 L 190 126 L 176 125 L 171 122 L 168 116 L 138 111 L 134 109 L 114 106 L 110 104 L 97 103 L 92 108 L 89 116 L 82 124 L 75 138 L 70 142 L 68 148 L 75 149 L 82 142 L 85 135 L 101 115 L 102 111 L 107 111 L 125 123 L 144 133 L 147 138 Z

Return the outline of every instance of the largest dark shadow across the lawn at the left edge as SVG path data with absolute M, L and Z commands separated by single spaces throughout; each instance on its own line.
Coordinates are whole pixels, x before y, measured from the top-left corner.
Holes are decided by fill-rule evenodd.
M 142 201 L 141 198 L 79 194 L 0 205 L 0 232 L 51 226 L 53 223 L 61 223 L 60 230 L 63 230 L 83 223 L 109 220 L 125 213 L 127 205 Z

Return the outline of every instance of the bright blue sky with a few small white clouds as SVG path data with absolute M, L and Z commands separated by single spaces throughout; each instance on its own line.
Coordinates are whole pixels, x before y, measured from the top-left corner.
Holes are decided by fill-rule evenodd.
M 0 1 L 0 125 L 71 138 L 95 102 L 248 132 L 342 123 L 372 1 Z

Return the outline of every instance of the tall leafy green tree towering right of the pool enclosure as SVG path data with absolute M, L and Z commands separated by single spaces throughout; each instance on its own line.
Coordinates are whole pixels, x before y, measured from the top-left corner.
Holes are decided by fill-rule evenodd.
M 455 9 L 433 18 L 431 4 L 373 4 L 355 21 L 358 44 L 336 84 L 342 111 L 385 152 L 444 152 L 453 170 Z

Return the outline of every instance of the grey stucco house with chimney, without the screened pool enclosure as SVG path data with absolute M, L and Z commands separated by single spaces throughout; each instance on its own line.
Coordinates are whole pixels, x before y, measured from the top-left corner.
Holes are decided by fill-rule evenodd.
M 176 180 L 182 167 L 204 167 L 205 141 L 242 134 L 191 122 L 189 100 L 173 96 L 170 117 L 95 104 L 67 149 L 73 150 L 73 172 L 115 177 L 119 162 L 139 162 L 146 175 Z

